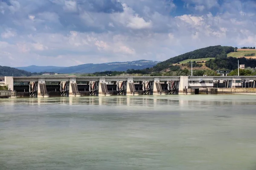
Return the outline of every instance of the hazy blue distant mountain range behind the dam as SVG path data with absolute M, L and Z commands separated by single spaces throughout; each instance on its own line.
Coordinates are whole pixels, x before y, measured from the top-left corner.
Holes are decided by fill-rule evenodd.
M 39 72 L 55 72 L 59 74 L 71 73 L 95 73 L 102 71 L 127 71 L 128 69 L 144 69 L 151 68 L 157 65 L 157 61 L 137 60 L 131 62 L 108 62 L 102 64 L 82 64 L 71 67 L 56 67 L 56 66 L 37 66 L 30 65 L 27 67 L 16 67 L 17 69 L 29 71 L 31 73 Z

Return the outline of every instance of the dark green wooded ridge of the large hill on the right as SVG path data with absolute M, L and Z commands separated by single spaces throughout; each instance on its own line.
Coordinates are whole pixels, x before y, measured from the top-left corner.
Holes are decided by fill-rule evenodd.
M 166 68 L 170 68 L 172 64 L 183 61 L 185 59 L 198 59 L 217 56 L 226 57 L 228 53 L 233 52 L 234 50 L 235 49 L 233 47 L 221 45 L 201 48 L 160 62 L 153 67 L 153 71 L 162 71 Z

